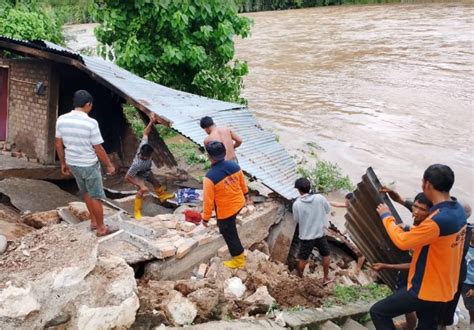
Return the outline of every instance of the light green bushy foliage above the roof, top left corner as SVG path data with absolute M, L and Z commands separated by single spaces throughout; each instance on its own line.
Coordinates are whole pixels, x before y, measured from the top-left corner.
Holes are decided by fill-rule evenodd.
M 33 0 L 5 0 L 0 4 L 0 35 L 63 43 L 61 27 L 57 24 L 54 14 L 44 10 Z

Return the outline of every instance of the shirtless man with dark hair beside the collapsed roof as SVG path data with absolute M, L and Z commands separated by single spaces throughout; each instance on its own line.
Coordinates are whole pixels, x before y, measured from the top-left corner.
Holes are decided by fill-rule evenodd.
M 204 146 L 211 141 L 222 142 L 225 146 L 225 160 L 231 160 L 238 163 L 235 149 L 242 144 L 242 139 L 228 127 L 217 127 L 211 117 L 202 117 L 200 122 L 201 128 L 207 133 L 204 139 Z

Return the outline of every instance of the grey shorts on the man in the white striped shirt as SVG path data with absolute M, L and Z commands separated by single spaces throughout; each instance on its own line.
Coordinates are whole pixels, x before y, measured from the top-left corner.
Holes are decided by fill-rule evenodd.
M 76 179 L 81 194 L 88 193 L 94 199 L 105 198 L 99 162 L 87 167 L 70 165 L 69 168 Z

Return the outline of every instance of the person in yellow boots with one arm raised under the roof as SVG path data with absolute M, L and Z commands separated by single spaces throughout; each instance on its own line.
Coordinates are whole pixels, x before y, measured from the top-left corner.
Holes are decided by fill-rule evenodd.
M 156 116 L 153 114 L 150 117 L 150 122 L 143 131 L 143 138 L 138 146 L 137 155 L 133 159 L 132 165 L 125 175 L 125 179 L 138 188 L 133 209 L 134 217 L 137 220 L 142 218 L 143 195 L 148 192 L 148 188 L 145 185 L 146 181 L 153 185 L 160 202 L 163 203 L 165 200 L 174 197 L 174 194 L 167 192 L 151 172 L 151 155 L 153 154 L 153 148 L 148 144 L 148 136 L 153 129 L 155 121 Z

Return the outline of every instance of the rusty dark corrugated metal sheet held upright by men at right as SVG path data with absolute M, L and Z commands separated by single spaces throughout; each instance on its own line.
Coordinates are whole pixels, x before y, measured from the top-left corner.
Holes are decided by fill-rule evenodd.
M 397 223 L 401 223 L 400 216 L 393 207 L 386 194 L 379 192 L 382 185 L 369 167 L 362 181 L 357 184 L 354 198 L 350 200 L 346 214 L 346 227 L 349 235 L 362 254 L 371 263 L 399 264 L 410 262 L 408 252 L 401 251 L 393 243 L 376 211 L 380 203 L 390 208 Z M 384 270 L 380 272 L 383 281 L 392 289 L 396 284 L 396 271 Z

